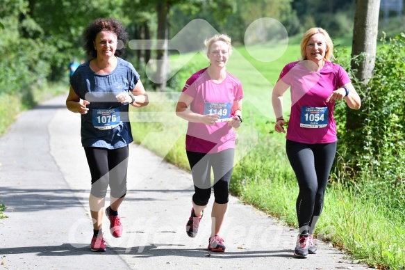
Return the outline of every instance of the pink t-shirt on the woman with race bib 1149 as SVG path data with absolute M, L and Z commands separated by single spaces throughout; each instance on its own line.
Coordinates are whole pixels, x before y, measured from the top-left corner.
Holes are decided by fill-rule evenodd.
M 194 100 L 190 110 L 194 113 L 213 113 L 217 109 L 224 122 L 215 125 L 188 122 L 185 136 L 185 149 L 192 152 L 217 153 L 229 148 L 235 148 L 235 133 L 226 122 L 226 118 L 234 115 L 231 111 L 235 100 L 242 100 L 243 91 L 240 81 L 226 72 L 226 78 L 220 84 L 215 84 L 208 75 L 207 68 L 199 70 L 187 80 L 183 92 Z M 205 113 L 204 113 L 205 112 Z

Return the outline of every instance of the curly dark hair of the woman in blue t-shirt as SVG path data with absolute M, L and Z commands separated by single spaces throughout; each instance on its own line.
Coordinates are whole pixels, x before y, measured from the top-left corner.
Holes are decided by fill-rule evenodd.
M 93 42 L 96 40 L 97 34 L 101 31 L 109 31 L 117 35 L 118 44 L 114 55 L 122 56 L 125 51 L 126 42 L 128 41 L 128 33 L 125 31 L 124 26 L 117 19 L 99 18 L 95 19 L 94 22 L 89 24 L 89 26 L 83 32 L 83 40 L 85 42 L 83 49 L 88 57 L 90 59 L 97 57 L 97 50 L 94 49 Z

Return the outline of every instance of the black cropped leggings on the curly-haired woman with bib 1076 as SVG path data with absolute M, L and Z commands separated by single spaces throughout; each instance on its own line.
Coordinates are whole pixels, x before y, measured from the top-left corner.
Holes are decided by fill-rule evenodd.
M 117 149 L 86 147 L 84 151 L 92 175 L 92 196 L 106 197 L 110 184 L 111 196 L 123 198 L 126 195 L 128 145 Z

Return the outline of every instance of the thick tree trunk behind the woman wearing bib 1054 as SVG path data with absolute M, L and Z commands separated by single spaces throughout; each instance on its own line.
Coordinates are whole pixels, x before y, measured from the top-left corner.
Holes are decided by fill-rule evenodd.
M 374 70 L 377 34 L 379 24 L 380 0 L 356 0 L 356 12 L 354 13 L 352 58 L 364 53 L 363 61 L 356 63 L 352 60 L 352 70 L 357 70 L 356 79 L 362 84 L 367 84 Z M 361 118 L 352 109 L 346 113 L 347 130 L 361 127 Z

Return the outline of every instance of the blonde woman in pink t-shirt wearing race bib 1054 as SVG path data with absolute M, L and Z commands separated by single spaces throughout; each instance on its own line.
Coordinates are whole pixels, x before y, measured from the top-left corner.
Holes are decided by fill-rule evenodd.
M 347 72 L 332 63 L 333 43 L 327 31 L 311 28 L 301 40 L 301 60 L 286 65 L 273 88 L 272 104 L 276 132 L 283 125 L 283 93 L 290 88 L 291 113 L 287 128 L 286 152 L 297 177 L 296 203 L 299 235 L 295 257 L 315 253 L 313 232 L 322 212 L 324 192 L 336 154 L 336 100 L 360 109 L 361 100 Z

